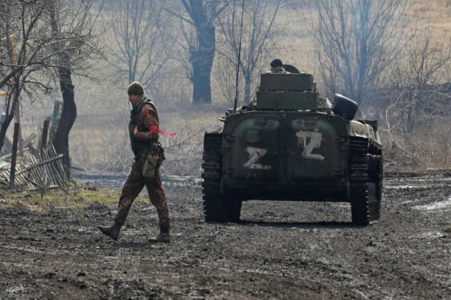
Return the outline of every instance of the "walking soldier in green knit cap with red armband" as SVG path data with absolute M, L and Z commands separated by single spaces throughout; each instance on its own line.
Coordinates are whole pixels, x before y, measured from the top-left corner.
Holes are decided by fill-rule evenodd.
M 144 94 L 144 88 L 138 81 L 128 86 L 128 100 L 133 107 L 128 131 L 135 157 L 128 178 L 122 187 L 114 223 L 110 227 L 98 226 L 98 228 L 102 233 L 117 240 L 134 199 L 145 185 L 150 202 L 157 209 L 160 225 L 160 233 L 155 239 L 149 239 L 149 241 L 170 242 L 169 211 L 158 170 L 164 159 L 158 135 L 164 132 L 158 127 L 155 104 Z

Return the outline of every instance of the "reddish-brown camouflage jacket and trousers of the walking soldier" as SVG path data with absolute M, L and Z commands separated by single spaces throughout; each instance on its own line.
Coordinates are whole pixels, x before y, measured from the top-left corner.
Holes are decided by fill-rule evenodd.
M 131 111 L 128 127 L 135 158 L 122 188 L 119 207 L 114 220 L 121 225 L 124 224 L 133 201 L 145 185 L 149 193 L 150 202 L 158 212 L 160 229 L 169 229 L 169 210 L 159 170 L 155 170 L 153 178 L 144 178 L 142 176 L 144 159 L 150 148 L 155 147 L 158 143 L 158 132 L 148 130 L 152 125 L 158 126 L 158 113 L 154 103 L 145 95 L 142 95 L 137 103 L 133 105 Z M 136 134 L 133 132 L 135 127 L 138 128 Z

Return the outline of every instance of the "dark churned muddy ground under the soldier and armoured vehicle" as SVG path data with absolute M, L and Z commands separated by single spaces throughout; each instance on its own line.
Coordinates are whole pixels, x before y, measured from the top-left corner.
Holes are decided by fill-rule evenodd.
M 182 180 L 182 182 L 184 182 Z M 0 298 L 449 299 L 451 172 L 386 174 L 381 218 L 346 203 L 248 201 L 240 223 L 205 223 L 198 180 L 164 184 L 172 242 L 147 242 L 137 203 L 119 240 L 115 205 L 30 210 L 0 202 Z

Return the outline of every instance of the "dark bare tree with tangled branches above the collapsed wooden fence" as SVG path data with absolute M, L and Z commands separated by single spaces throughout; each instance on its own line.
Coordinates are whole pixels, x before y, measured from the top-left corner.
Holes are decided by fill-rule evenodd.
M 34 98 L 40 92 L 51 92 L 58 80 L 65 107 L 56 133 L 55 147 L 64 154 L 63 161 L 68 172 L 68 135 L 76 117 L 70 75 L 88 76 L 87 71 L 92 64 L 90 58 L 99 54 L 99 39 L 94 29 L 97 14 L 91 14 L 93 2 L 6 0 L 0 4 L 0 34 L 17 36 L 15 57 L 10 54 L 13 51 L 11 46 L 6 48 L 7 51 L 0 48 L 0 88 L 13 91 L 5 103 L 8 116 L 0 130 L 0 145 L 3 145 L 14 117 L 14 108 L 19 105 L 22 95 L 25 93 Z M 8 39 L 5 40 L 8 42 Z

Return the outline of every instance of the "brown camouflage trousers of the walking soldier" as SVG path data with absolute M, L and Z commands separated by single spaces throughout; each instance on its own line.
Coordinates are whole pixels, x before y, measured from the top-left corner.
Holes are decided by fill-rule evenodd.
M 153 178 L 144 178 L 142 176 L 143 166 L 144 161 L 142 157 L 136 157 L 127 180 L 122 187 L 119 207 L 114 220 L 120 224 L 124 224 L 133 201 L 145 185 L 149 193 L 150 202 L 157 210 L 160 228 L 169 228 L 169 210 L 167 208 L 166 194 L 161 184 L 160 172 L 159 170 L 155 170 L 155 176 Z

